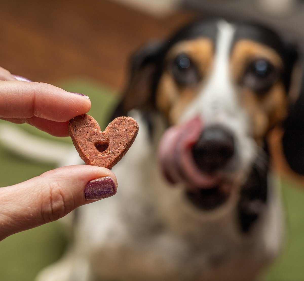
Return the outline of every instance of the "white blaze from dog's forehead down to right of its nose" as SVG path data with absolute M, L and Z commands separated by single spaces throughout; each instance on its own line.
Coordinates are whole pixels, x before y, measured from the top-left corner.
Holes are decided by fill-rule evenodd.
M 237 85 L 230 75 L 230 53 L 235 26 L 220 21 L 216 39 L 214 61 L 209 77 L 202 82 L 197 97 L 181 116 L 181 122 L 200 116 L 204 128 L 218 124 L 231 130 L 240 154 L 239 166 L 248 166 L 254 157 L 255 146 L 248 138 L 248 115 L 240 105 Z

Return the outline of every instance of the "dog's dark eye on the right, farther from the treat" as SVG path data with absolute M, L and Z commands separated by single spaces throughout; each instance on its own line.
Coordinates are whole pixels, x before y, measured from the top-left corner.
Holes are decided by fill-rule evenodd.
M 243 84 L 257 94 L 267 92 L 278 80 L 278 71 L 267 60 L 261 59 L 251 63 L 243 78 Z

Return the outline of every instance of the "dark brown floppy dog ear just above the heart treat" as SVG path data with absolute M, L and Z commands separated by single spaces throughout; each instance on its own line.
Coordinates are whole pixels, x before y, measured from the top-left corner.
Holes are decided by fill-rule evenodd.
M 162 42 L 151 42 L 133 55 L 129 81 L 113 117 L 126 115 L 133 108 L 148 111 L 155 108 L 154 92 L 161 71 L 163 46 Z

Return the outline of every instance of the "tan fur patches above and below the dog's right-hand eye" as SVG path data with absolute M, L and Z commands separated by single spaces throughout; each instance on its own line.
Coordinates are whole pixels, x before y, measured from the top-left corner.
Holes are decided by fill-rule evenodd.
M 230 62 L 231 77 L 238 84 L 248 64 L 257 59 L 266 59 L 281 70 L 282 59 L 268 46 L 250 40 L 240 40 L 233 48 Z M 242 105 L 248 111 L 252 122 L 252 135 L 258 143 L 262 141 L 269 129 L 286 116 L 287 98 L 282 81 L 276 82 L 267 93 L 259 96 L 244 87 L 240 89 Z

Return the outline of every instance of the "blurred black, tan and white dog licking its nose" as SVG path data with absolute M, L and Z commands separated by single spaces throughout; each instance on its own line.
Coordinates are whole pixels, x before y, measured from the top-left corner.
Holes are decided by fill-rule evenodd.
M 304 173 L 297 61 L 271 29 L 221 19 L 143 46 L 113 114 L 140 128 L 113 168 L 119 190 L 78 208 L 67 253 L 37 280 L 259 278 L 284 240 L 274 128 Z

